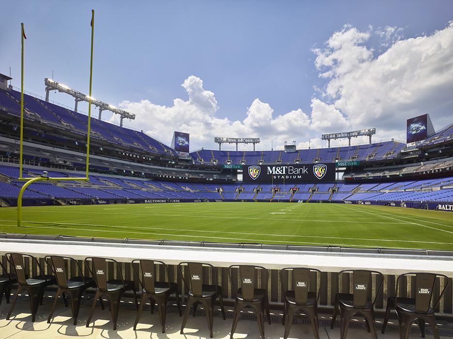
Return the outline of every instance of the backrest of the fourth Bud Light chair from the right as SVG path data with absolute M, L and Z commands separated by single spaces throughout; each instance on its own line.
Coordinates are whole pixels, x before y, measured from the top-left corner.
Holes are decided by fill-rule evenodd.
M 255 298 L 255 288 L 258 286 L 257 275 L 259 272 L 262 274 L 261 287 L 264 290 L 267 290 L 269 272 L 266 268 L 254 265 L 231 265 L 228 267 L 231 286 L 236 285 L 231 277 L 231 271 L 233 268 L 239 268 L 239 288 L 242 290 L 244 300 L 251 301 Z

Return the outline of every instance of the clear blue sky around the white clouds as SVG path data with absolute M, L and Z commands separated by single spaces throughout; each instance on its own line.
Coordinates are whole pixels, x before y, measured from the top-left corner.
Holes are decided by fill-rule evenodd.
M 93 96 L 114 105 L 146 99 L 171 107 L 175 98 L 187 100 L 181 84 L 193 75 L 202 79 L 204 90 L 215 94 L 215 117 L 230 121 L 243 121 L 257 98 L 272 107 L 274 116 L 301 109 L 310 118 L 313 97 L 332 104 L 336 98 L 314 90 L 324 89 L 330 79 L 319 77 L 312 49 L 324 48 L 345 24 L 371 32 L 362 45 L 377 58 L 388 46 L 381 46 L 383 38 L 376 31 L 401 28 L 400 40 L 429 36 L 453 19 L 450 0 L 2 1 L 1 8 L 8 15 L 0 23 L 0 72 L 8 74 L 11 66 L 15 86 L 20 84 L 20 22 L 24 22 L 25 89 L 44 95 L 43 79 L 53 70 L 55 80 L 88 92 L 89 22 L 94 8 Z M 72 106 L 64 94 L 52 93 L 51 99 Z M 349 117 L 347 109 L 340 112 Z M 442 118 L 440 108 L 434 113 Z M 437 127 L 445 124 L 445 119 L 439 120 Z M 359 124 L 366 122 L 348 127 L 361 128 Z M 321 133 L 310 130 L 297 141 Z M 168 134 L 158 137 L 166 141 L 171 139 Z M 198 139 L 201 145 L 203 139 Z

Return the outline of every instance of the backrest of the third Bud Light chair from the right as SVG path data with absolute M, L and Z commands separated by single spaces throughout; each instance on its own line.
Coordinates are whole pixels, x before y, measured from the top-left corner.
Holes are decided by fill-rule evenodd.
M 302 268 L 302 267 L 282 268 L 280 270 L 280 283 L 281 283 L 283 294 L 289 290 L 289 287 L 287 288 L 288 284 L 286 284 L 283 279 L 284 272 L 292 272 L 291 285 L 292 285 L 292 289 L 294 291 L 295 302 L 296 302 L 296 304 L 299 304 L 299 305 L 307 304 L 308 291 L 310 288 L 311 272 L 319 273 L 321 281 L 319 283 L 319 289 L 316 293 L 317 299 L 319 298 L 319 296 L 321 294 L 320 293 L 321 286 L 323 285 L 323 275 L 321 274 L 320 270 L 317 270 L 315 268 Z

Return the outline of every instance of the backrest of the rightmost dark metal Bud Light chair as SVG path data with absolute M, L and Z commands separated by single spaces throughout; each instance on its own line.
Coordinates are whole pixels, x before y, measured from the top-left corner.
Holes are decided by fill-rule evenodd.
M 433 308 L 437 307 L 437 304 L 440 301 L 443 293 L 447 289 L 450 281 L 447 276 L 442 274 L 435 274 L 435 273 L 405 273 L 402 274 L 396 279 L 396 302 L 398 302 L 398 292 L 399 292 L 399 284 L 404 277 L 413 277 L 415 276 L 415 311 L 417 313 L 427 313 L 428 309 L 431 307 L 431 303 L 433 301 L 434 296 L 434 286 L 436 283 L 436 277 L 443 277 L 444 278 L 444 288 L 440 291 L 439 296 L 435 303 L 433 303 Z

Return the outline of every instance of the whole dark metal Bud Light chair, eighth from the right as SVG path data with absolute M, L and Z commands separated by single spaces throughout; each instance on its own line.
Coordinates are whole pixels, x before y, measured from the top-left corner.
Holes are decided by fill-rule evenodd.
M 84 277 L 82 273 L 82 269 L 80 267 L 79 262 L 75 259 L 70 257 L 60 257 L 60 256 L 47 256 L 46 261 L 49 263 L 50 268 L 53 271 L 53 274 L 56 277 L 58 290 L 55 294 L 55 300 L 52 305 L 52 309 L 50 310 L 49 318 L 47 319 L 48 324 L 50 323 L 53 312 L 55 312 L 55 308 L 57 306 L 58 297 L 60 295 L 65 296 L 67 294 L 69 299 L 71 300 L 71 308 L 72 308 L 72 319 L 73 324 L 77 324 L 77 317 L 79 315 L 79 308 L 80 308 L 80 301 L 83 292 L 88 287 L 92 287 L 95 285 L 95 281 L 91 277 Z M 66 261 L 69 260 L 78 269 L 79 276 L 67 278 L 67 271 L 66 271 Z M 65 299 L 64 299 L 65 300 Z M 99 298 L 102 304 L 102 300 Z M 67 305 L 66 305 L 67 307 Z M 103 307 L 103 305 L 102 305 Z

